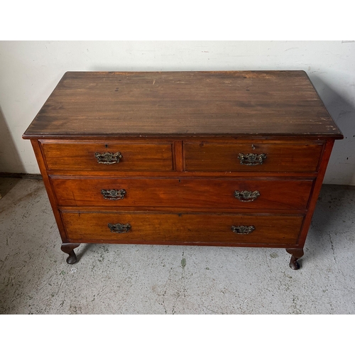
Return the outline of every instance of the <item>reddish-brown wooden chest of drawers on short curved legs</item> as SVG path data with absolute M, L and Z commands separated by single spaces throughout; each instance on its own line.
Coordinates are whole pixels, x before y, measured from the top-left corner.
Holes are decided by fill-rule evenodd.
M 31 139 L 62 251 L 285 248 L 297 269 L 335 139 L 302 71 L 67 72 Z

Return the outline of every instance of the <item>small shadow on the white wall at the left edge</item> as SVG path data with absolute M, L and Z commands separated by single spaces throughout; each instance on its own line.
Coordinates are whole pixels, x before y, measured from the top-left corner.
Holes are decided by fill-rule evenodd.
M 23 173 L 25 168 L 0 107 L 0 173 Z

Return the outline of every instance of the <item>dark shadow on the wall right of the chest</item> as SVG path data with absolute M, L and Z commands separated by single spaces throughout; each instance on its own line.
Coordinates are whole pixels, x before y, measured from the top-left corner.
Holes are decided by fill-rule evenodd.
M 355 185 L 355 107 L 320 77 L 310 77 L 325 107 L 344 135 L 335 141 L 324 183 Z

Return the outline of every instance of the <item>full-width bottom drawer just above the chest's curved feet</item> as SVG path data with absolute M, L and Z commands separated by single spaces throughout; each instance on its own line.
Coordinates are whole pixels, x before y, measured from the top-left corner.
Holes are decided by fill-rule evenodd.
M 303 217 L 81 211 L 62 212 L 62 219 L 73 242 L 295 245 Z

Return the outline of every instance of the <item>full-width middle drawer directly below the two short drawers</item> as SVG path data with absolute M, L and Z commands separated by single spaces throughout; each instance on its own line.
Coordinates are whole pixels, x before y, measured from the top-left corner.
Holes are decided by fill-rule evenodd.
M 52 176 L 61 206 L 306 209 L 313 180 Z

